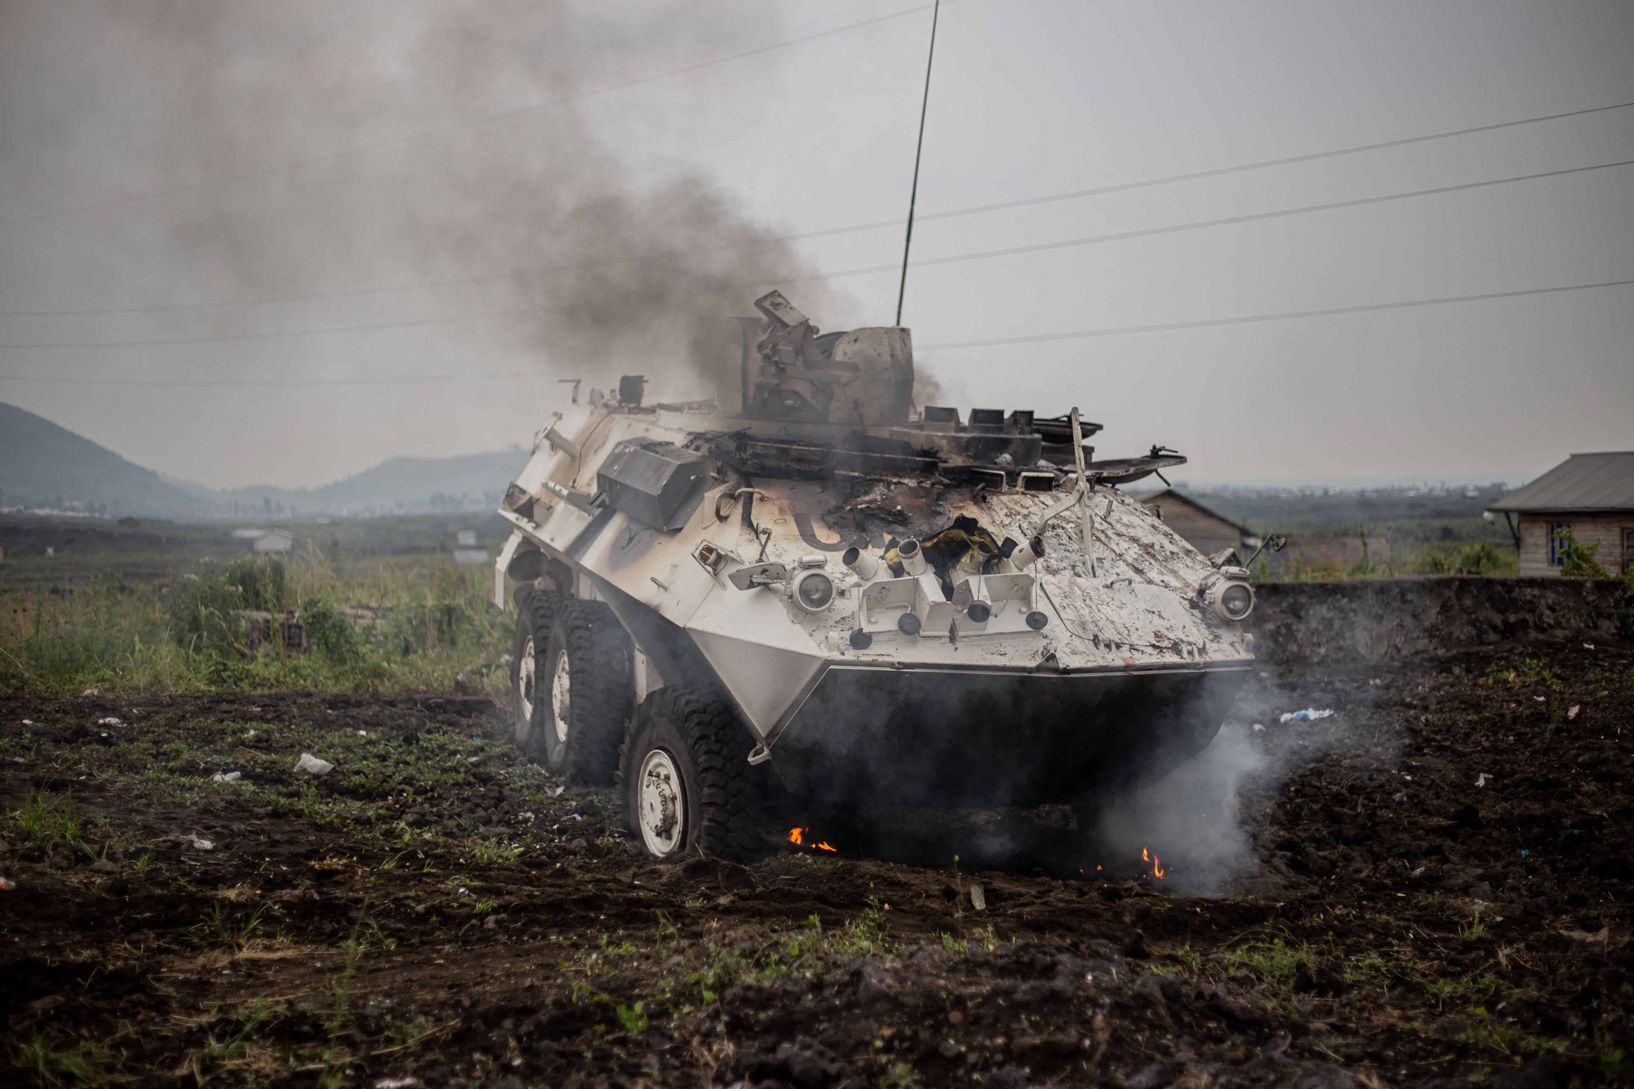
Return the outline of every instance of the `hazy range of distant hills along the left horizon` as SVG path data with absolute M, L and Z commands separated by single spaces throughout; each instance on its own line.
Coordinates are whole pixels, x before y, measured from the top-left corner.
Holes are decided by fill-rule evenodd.
M 0 403 L 0 506 L 147 518 L 273 518 L 493 509 L 528 460 L 520 446 L 461 457 L 394 457 L 320 488 L 206 488 L 134 465 L 42 416 Z

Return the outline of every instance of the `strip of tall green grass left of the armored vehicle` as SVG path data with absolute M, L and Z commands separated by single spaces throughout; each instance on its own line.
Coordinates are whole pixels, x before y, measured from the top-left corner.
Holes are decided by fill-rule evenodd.
M 498 686 L 513 620 L 487 601 L 490 578 L 443 557 L 343 570 L 312 553 L 206 562 L 147 585 L 36 585 L 0 612 L 0 692 Z M 310 653 L 286 653 L 276 633 L 253 647 L 245 609 L 296 611 Z

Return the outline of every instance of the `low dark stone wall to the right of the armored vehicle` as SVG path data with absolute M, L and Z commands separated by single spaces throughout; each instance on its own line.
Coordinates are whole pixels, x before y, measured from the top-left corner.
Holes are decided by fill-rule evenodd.
M 1257 583 L 1255 655 L 1288 665 L 1364 665 L 1500 642 L 1611 638 L 1624 588 L 1611 578 L 1423 575 Z

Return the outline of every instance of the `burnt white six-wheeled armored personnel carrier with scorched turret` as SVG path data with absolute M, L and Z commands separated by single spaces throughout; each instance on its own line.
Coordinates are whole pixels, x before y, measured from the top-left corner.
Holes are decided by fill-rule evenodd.
M 755 305 L 714 400 L 626 376 L 508 488 L 525 753 L 616 784 L 655 857 L 748 857 L 771 803 L 1082 805 L 1209 745 L 1247 567 L 1118 490 L 1183 457 L 1093 460 L 1077 408 L 915 415 L 909 330 Z

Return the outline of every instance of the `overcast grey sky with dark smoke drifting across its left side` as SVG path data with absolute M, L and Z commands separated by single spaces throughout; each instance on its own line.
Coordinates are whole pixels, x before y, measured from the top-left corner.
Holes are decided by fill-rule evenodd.
M 652 315 L 699 296 L 663 276 L 788 268 L 824 328 L 889 323 L 895 273 L 814 278 L 900 260 L 930 7 L 606 7 L 0 3 L 0 400 L 167 473 L 299 487 L 528 442 L 559 377 L 685 385 L 686 331 Z M 1618 103 L 1626 0 L 951 0 L 904 323 L 953 403 L 1075 403 L 1106 456 L 1176 446 L 1193 482 L 1518 482 L 1631 449 L 1629 286 L 958 344 L 1634 279 L 1634 167 L 1608 165 L 1634 108 L 936 216 Z M 587 219 L 606 188 L 627 202 Z M 668 256 L 626 299 L 624 273 L 508 276 L 627 264 L 649 225 Z M 386 328 L 301 333 L 335 327 Z

